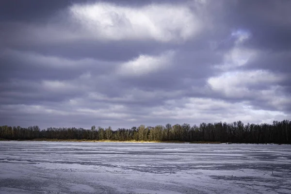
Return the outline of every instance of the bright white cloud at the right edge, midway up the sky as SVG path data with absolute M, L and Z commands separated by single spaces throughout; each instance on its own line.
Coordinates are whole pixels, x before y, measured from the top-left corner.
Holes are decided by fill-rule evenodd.
M 286 80 L 286 74 L 251 70 L 226 72 L 209 78 L 207 83 L 220 98 L 247 100 L 255 110 L 289 111 L 290 94 L 280 85 Z

